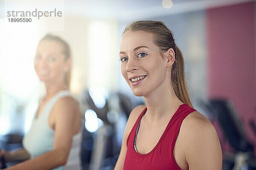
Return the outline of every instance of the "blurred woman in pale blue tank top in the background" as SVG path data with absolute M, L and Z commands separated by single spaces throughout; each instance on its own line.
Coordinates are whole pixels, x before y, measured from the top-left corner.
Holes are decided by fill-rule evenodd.
M 8 170 L 81 169 L 81 116 L 69 91 L 71 62 L 70 47 L 61 38 L 48 34 L 39 42 L 35 71 L 46 95 L 23 138 L 24 149 L 0 151 L 6 162 L 23 161 Z

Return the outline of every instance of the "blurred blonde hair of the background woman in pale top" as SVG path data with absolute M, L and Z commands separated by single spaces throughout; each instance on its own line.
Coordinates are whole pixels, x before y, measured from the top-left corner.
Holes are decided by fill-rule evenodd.
M 65 56 L 65 60 L 67 60 L 68 58 L 71 57 L 71 50 L 70 50 L 70 46 L 68 45 L 67 42 L 65 42 L 64 40 L 62 40 L 60 37 L 57 37 L 57 36 L 53 36 L 51 34 L 47 34 L 45 35 L 41 40 L 52 40 L 52 41 L 56 41 L 56 42 L 59 42 L 61 45 L 63 45 L 63 54 Z M 64 77 L 64 82 L 65 82 L 65 85 L 67 86 L 68 89 L 70 89 L 70 79 L 71 79 L 71 68 L 70 70 L 65 74 L 65 77 Z

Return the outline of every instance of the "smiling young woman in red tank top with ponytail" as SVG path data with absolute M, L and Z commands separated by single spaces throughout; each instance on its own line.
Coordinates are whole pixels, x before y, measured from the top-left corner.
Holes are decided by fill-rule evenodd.
M 183 57 L 165 24 L 128 25 L 120 60 L 123 77 L 146 106 L 128 118 L 115 170 L 221 170 L 218 135 L 192 108 Z

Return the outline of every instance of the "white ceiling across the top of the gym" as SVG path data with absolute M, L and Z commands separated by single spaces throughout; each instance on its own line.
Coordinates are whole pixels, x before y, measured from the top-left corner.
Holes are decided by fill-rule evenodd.
M 64 14 L 76 14 L 90 18 L 107 18 L 117 20 L 137 20 L 160 17 L 171 14 L 186 13 L 246 3 L 256 0 L 172 0 L 173 6 L 166 9 L 162 0 L 0 0 L 0 15 L 9 10 L 30 10 L 34 8 L 60 8 Z M 6 8 L 5 8 L 5 7 Z

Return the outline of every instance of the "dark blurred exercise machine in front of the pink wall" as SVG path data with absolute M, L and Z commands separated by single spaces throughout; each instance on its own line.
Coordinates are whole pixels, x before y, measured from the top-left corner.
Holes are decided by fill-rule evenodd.
M 239 119 L 233 103 L 227 99 L 209 99 L 201 101 L 200 104 L 218 121 L 225 139 L 235 150 L 235 153 L 224 153 L 224 163 L 231 162 L 232 170 L 256 170 L 253 144 L 247 139 L 243 123 Z M 250 124 L 253 127 L 255 122 L 251 120 Z M 254 132 L 256 134 L 255 130 Z

